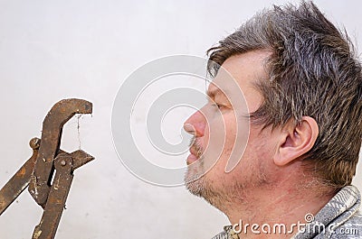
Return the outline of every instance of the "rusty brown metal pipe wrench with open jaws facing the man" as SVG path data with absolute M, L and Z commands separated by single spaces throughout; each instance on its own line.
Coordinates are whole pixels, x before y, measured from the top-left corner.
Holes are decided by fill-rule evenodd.
M 0 189 L 1 215 L 29 185 L 32 197 L 44 208 L 33 239 L 54 237 L 71 187 L 73 171 L 94 159 L 81 150 L 68 153 L 60 149 L 62 126 L 75 114 L 91 112 L 92 104 L 81 99 L 65 99 L 52 106 L 43 121 L 42 140 L 33 138 L 30 142 L 32 157 Z M 56 173 L 52 181 L 54 170 Z

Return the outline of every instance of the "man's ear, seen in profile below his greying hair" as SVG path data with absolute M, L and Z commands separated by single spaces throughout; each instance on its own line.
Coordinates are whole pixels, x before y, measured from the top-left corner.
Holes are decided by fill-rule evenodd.
M 289 121 L 281 129 L 274 163 L 278 166 L 284 166 L 309 152 L 316 142 L 318 134 L 318 124 L 309 116 L 303 116 L 298 125 Z

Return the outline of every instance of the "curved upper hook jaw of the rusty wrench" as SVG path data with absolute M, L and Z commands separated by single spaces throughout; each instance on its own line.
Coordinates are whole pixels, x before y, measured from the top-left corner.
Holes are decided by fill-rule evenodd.
M 83 99 L 63 99 L 52 106 L 43 121 L 42 143 L 36 158 L 29 193 L 44 207 L 51 189 L 53 161 L 60 152 L 62 127 L 75 114 L 91 114 L 92 104 Z

